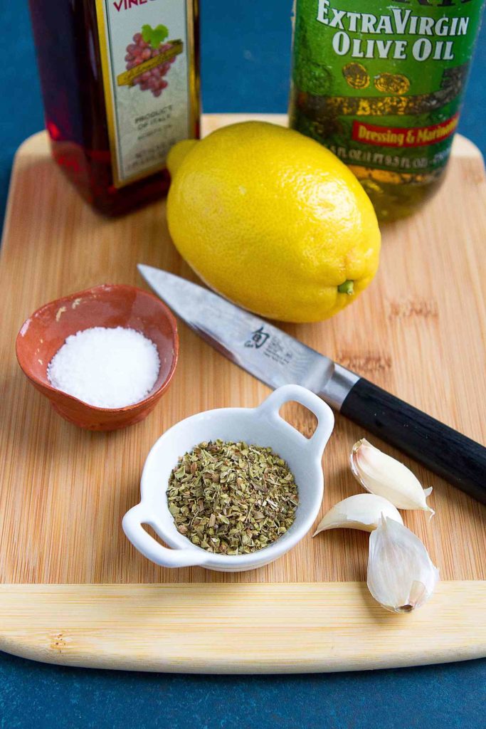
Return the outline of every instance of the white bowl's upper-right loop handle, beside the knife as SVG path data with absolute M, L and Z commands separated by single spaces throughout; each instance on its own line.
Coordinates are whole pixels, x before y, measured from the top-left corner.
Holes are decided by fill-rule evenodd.
M 308 448 L 314 456 L 321 459 L 326 443 L 334 428 L 334 414 L 331 408 L 329 408 L 329 405 L 326 405 L 324 400 L 321 400 L 318 395 L 315 395 L 300 385 L 283 385 L 274 390 L 267 399 L 264 399 L 262 405 L 259 405 L 256 410 L 264 413 L 267 418 L 270 418 L 274 422 L 277 418 L 283 420 L 278 411 L 285 402 L 291 402 L 291 400 L 295 400 L 300 405 L 304 405 L 317 418 L 318 425 L 312 437 L 306 438 L 302 433 L 299 433 L 299 435 L 302 435 L 302 445 Z M 287 425 L 289 424 L 287 423 Z

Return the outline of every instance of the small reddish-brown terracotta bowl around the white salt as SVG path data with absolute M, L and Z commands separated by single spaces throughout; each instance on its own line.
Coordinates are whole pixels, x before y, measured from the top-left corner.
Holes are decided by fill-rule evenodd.
M 97 408 L 55 389 L 47 365 L 71 334 L 90 327 L 131 327 L 152 340 L 160 372 L 152 392 L 125 408 Z M 179 337 L 167 306 L 135 286 L 105 284 L 57 299 L 37 309 L 23 323 L 15 343 L 17 359 L 28 379 L 70 423 L 89 430 L 116 430 L 143 420 L 168 389 L 176 369 Z

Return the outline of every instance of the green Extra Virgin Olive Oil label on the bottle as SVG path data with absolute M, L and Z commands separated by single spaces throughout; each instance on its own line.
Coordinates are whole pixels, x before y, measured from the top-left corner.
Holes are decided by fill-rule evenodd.
M 297 0 L 291 125 L 348 165 L 440 173 L 483 0 Z

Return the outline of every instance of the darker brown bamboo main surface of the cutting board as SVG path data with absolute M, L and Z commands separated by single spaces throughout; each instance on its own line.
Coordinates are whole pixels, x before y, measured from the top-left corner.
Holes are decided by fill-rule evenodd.
M 206 117 L 206 129 L 233 120 Z M 284 327 L 482 443 L 485 201 L 479 152 L 458 139 L 439 195 L 415 217 L 383 230 L 380 271 L 367 292 L 334 319 Z M 0 582 L 364 580 L 368 537 L 357 531 L 315 539 L 309 534 L 274 564 L 238 574 L 162 569 L 125 539 L 122 515 L 139 500 L 141 468 L 154 440 L 181 418 L 207 408 L 256 405 L 268 392 L 179 322 L 178 370 L 144 422 L 91 433 L 57 416 L 17 366 L 20 325 L 43 303 L 89 286 L 144 287 L 137 262 L 197 280 L 170 241 L 165 202 L 121 219 L 98 217 L 55 168 L 44 133 L 28 139 L 15 160 L 0 264 Z M 303 432 L 312 429 L 305 410 L 289 408 L 287 416 Z M 323 512 L 360 491 L 348 452 L 364 435 L 337 417 L 324 458 Z M 431 521 L 422 512 L 403 515 L 442 578 L 485 579 L 485 508 L 405 461 L 423 486 L 434 486 Z

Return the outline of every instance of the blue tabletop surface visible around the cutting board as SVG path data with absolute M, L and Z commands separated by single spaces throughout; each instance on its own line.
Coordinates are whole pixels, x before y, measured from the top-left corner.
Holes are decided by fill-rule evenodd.
M 202 6 L 205 112 L 285 112 L 291 0 L 203 0 Z M 15 149 L 42 129 L 43 117 L 26 0 L 1 0 L 0 17 L 3 217 Z M 485 74 L 483 27 L 459 125 L 483 153 Z M 134 725 L 482 729 L 486 660 L 346 674 L 199 677 L 61 668 L 0 653 L 0 729 Z

